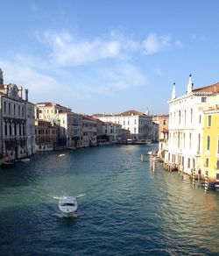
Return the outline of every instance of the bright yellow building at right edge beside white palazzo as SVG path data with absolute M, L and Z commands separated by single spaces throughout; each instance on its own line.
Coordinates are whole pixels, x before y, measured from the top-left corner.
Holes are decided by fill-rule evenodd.
M 209 181 L 219 181 L 219 109 L 204 111 L 203 124 L 203 175 L 208 170 Z

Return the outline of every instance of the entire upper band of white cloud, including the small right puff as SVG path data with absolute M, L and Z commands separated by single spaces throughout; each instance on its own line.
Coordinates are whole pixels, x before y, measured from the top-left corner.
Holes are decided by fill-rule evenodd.
M 166 47 L 181 46 L 169 35 L 150 33 L 145 40 L 134 40 L 111 31 L 108 37 L 79 39 L 69 32 L 36 33 L 40 42 L 51 49 L 50 61 L 56 66 L 82 66 L 98 60 L 127 60 L 132 53 L 158 53 Z

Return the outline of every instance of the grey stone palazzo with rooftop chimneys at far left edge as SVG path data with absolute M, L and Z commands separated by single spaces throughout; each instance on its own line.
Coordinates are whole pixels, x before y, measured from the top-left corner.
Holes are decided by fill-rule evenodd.
M 9 160 L 35 153 L 33 104 L 28 102 L 28 90 L 16 84 L 4 84 L 0 69 L 0 154 Z

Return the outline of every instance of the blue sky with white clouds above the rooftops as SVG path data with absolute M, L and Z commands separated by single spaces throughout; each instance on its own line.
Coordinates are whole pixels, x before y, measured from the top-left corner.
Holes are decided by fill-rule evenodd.
M 219 82 L 217 0 L 0 0 L 4 83 L 74 112 L 168 113 Z

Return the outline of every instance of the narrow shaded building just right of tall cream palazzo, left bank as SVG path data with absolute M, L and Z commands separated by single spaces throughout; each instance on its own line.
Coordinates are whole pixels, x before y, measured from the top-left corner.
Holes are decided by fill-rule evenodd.
M 82 116 L 82 146 L 96 146 L 96 119 L 94 117 Z

